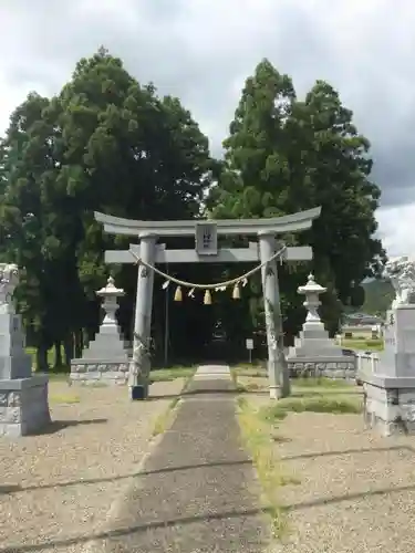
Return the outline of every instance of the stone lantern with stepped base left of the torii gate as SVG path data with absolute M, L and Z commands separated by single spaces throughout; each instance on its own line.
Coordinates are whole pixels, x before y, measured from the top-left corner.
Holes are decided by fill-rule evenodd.
M 82 357 L 71 362 L 71 382 L 73 384 L 126 384 L 128 379 L 128 352 L 124 343 L 116 311 L 117 299 L 124 291 L 115 288 L 110 276 L 105 288 L 96 295 L 104 299 L 105 317 L 95 340 L 83 351 Z

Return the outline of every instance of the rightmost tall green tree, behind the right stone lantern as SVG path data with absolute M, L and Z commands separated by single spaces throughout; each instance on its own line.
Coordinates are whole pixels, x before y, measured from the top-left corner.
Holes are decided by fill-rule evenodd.
M 349 304 L 352 288 L 378 275 L 385 252 L 374 237 L 380 188 L 371 180 L 370 142 L 353 124 L 353 114 L 339 94 L 318 81 L 301 106 L 294 134 L 313 136 L 304 158 L 311 168 L 303 192 L 322 206 L 310 240 L 317 257 L 330 260 L 340 300 Z

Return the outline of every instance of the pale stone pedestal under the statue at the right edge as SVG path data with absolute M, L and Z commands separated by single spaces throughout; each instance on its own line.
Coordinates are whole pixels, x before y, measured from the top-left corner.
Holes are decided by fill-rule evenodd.
M 365 420 L 384 436 L 415 434 L 415 304 L 388 312 L 384 338 L 384 352 L 361 364 Z

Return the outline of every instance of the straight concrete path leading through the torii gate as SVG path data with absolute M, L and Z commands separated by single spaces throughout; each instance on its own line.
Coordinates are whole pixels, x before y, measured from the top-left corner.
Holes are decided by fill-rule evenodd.
M 198 368 L 101 551 L 264 551 L 268 521 L 239 442 L 232 392 L 229 367 Z

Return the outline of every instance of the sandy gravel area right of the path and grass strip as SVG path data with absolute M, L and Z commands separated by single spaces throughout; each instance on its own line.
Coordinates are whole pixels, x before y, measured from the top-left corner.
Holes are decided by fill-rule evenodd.
M 412 553 L 415 437 L 381 438 L 362 416 L 289 415 L 277 430 L 289 538 L 274 553 Z

